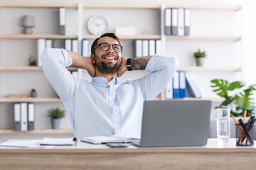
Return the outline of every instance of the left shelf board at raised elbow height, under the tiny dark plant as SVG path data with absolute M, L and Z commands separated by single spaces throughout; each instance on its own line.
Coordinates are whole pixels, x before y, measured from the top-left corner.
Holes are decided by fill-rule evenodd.
M 68 70 L 78 70 L 75 67 L 67 67 Z M 0 71 L 43 71 L 42 67 L 38 66 L 0 66 Z

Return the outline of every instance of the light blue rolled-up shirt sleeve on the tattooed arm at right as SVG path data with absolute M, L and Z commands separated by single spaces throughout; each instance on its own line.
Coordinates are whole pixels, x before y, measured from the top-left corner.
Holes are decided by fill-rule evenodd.
M 146 65 L 147 71 L 151 72 L 139 79 L 142 94 L 145 100 L 153 100 L 169 84 L 178 68 L 175 57 L 154 55 Z

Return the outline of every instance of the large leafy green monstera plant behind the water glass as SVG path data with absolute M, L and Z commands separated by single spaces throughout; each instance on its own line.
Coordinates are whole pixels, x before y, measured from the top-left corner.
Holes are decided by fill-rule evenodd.
M 256 84 L 252 84 L 247 89 L 241 89 L 245 84 L 242 81 L 233 81 L 229 83 L 223 79 L 213 79 L 210 81 L 213 83 L 213 91 L 220 97 L 225 98 L 225 101 L 220 103 L 220 106 L 215 108 L 228 108 L 230 107 L 230 113 L 234 116 L 242 116 L 247 111 L 247 116 L 250 116 L 255 112 L 255 98 L 253 98 L 253 91 L 256 91 Z M 236 89 L 240 89 L 240 92 L 234 93 Z M 232 91 L 232 92 L 231 92 Z M 233 95 L 231 95 L 231 93 Z

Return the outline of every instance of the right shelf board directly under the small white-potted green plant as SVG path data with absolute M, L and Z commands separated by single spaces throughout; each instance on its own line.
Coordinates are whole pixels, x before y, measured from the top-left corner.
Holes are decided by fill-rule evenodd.
M 241 71 L 241 67 L 201 67 L 201 66 L 188 66 L 188 67 L 178 67 L 178 71 L 240 72 Z

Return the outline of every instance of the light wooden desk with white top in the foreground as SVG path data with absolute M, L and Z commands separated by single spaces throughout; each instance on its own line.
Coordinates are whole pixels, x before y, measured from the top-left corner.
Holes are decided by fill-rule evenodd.
M 0 147 L 0 169 L 255 169 L 256 146 L 209 139 L 203 147 L 109 148 L 78 142 L 75 147 Z

